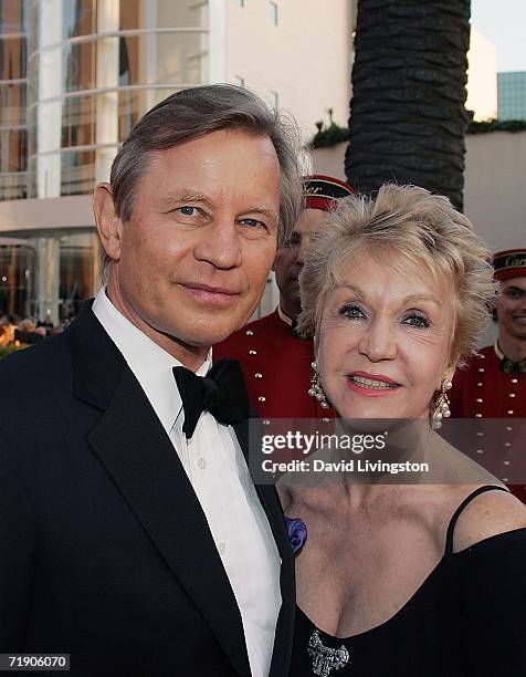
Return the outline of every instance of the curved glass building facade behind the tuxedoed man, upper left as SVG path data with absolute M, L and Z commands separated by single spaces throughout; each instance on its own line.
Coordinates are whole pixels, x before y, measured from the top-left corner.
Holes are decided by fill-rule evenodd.
M 0 208 L 88 196 L 148 108 L 209 82 L 208 58 L 208 1 L 0 0 Z M 96 290 L 93 227 L 1 213 L 0 311 L 69 317 Z

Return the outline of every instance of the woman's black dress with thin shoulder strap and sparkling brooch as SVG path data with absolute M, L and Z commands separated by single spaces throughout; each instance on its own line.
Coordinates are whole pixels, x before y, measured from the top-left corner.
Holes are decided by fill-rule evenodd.
M 298 608 L 292 677 L 526 677 L 526 529 L 453 553 L 448 528 L 442 560 L 389 621 L 348 638 L 318 629 Z

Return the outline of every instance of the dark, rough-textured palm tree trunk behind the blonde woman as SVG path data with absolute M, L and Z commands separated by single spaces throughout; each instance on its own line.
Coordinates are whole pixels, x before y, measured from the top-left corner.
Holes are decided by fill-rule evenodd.
M 347 177 L 446 195 L 462 209 L 470 0 L 358 0 Z

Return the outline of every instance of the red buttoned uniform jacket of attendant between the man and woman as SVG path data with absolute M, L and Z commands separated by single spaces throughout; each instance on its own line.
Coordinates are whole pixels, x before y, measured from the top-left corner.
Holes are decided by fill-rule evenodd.
M 335 416 L 334 409 L 323 409 L 307 394 L 313 342 L 294 336 L 277 310 L 213 346 L 213 360 L 222 357 L 241 362 L 251 402 L 262 418 Z

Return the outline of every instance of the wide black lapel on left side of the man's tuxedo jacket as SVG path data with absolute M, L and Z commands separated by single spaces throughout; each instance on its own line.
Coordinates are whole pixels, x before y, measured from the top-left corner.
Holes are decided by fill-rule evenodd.
M 250 675 L 241 614 L 207 518 L 148 398 L 91 310 L 66 338 L 75 394 L 104 410 L 88 442 L 236 673 Z

